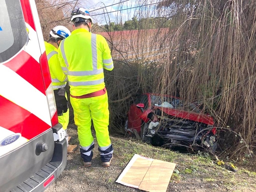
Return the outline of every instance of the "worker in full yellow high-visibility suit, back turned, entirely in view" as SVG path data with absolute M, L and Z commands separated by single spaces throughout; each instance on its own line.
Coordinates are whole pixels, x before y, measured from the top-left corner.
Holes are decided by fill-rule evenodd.
M 111 71 L 113 60 L 106 39 L 90 33 L 92 18 L 88 11 L 84 8 L 72 11 L 71 21 L 74 31 L 60 43 L 58 53 L 62 70 L 68 75 L 80 153 L 84 166 L 91 166 L 92 120 L 102 166 L 107 167 L 113 157 L 113 147 L 108 133 L 108 95 L 103 68 Z

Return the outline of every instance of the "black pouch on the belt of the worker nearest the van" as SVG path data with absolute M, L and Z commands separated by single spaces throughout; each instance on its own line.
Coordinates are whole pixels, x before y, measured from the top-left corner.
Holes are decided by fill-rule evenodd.
M 58 116 L 62 116 L 63 113 L 66 113 L 68 111 L 68 101 L 65 97 L 65 88 L 56 89 L 53 90 L 53 92 Z

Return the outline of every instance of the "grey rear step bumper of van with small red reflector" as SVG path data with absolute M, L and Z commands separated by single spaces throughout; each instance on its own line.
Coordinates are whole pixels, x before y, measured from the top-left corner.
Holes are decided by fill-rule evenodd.
M 67 141 L 66 139 L 55 142 L 52 160 L 36 172 L 33 176 L 12 188 L 10 192 L 41 192 L 49 187 L 60 173 L 65 169 L 67 163 Z M 50 182 L 49 182 L 50 181 Z

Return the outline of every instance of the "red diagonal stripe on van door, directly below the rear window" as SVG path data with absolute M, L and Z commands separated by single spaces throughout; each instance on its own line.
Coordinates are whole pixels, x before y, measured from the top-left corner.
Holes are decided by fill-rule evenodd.
M 4 65 L 15 71 L 44 95 L 46 94 L 40 64 L 27 52 L 21 51 Z

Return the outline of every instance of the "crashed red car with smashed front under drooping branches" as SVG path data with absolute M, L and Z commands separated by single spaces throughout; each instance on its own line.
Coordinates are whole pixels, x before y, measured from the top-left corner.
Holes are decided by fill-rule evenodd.
M 144 93 L 130 106 L 125 130 L 154 146 L 217 148 L 213 118 L 178 97 Z

